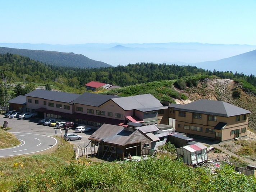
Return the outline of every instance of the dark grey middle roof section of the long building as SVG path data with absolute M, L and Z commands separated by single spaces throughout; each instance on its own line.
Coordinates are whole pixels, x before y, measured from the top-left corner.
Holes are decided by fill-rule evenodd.
M 77 103 L 82 105 L 99 107 L 100 105 L 104 104 L 112 98 L 119 97 L 114 95 L 102 95 L 97 93 L 84 92 L 82 95 L 77 97 L 77 99 L 74 100 L 71 104 Z

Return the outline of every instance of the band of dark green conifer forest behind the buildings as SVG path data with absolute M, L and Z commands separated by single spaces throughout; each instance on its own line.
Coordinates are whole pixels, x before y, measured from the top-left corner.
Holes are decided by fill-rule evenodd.
M 34 90 L 38 85 L 47 85 L 47 89 L 51 87 L 80 94 L 85 91 L 84 84 L 90 81 L 124 87 L 154 81 L 188 79 L 191 76 L 216 76 L 243 82 L 248 88 L 247 91 L 255 89 L 256 86 L 256 77 L 253 74 L 248 76 L 231 71 L 214 70 L 211 72 L 195 66 L 136 63 L 126 66 L 81 69 L 47 65 L 25 56 L 10 53 L 0 54 L 0 73 L 2 77 L 1 106 L 17 95 L 24 95 Z M 189 81 L 187 83 L 189 84 Z M 193 84 L 193 82 L 191 83 Z

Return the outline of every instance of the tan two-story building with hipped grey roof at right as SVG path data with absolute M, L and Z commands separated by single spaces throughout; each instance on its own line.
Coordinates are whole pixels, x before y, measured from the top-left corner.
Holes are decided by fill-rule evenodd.
M 169 118 L 181 133 L 226 141 L 247 136 L 251 112 L 224 101 L 197 100 L 189 104 L 170 104 Z

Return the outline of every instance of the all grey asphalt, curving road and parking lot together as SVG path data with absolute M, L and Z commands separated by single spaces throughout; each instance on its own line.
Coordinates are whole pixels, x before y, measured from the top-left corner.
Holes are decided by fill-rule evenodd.
M 55 129 L 55 127 L 49 127 L 42 124 L 40 125 L 38 124 L 38 120 L 40 119 L 38 118 L 10 119 L 10 118 L 5 118 L 4 115 L 0 115 L 1 125 L 4 124 L 4 121 L 7 121 L 8 127 L 12 128 L 12 129 L 9 129 L 8 132 L 14 133 L 18 139 L 22 140 L 21 141 L 22 146 L 19 146 L 19 148 L 17 147 L 17 150 L 15 148 L 12 148 L 14 150 L 12 150 L 12 152 L 9 151 L 9 155 L 36 153 L 36 152 L 42 151 L 43 149 L 41 147 L 43 146 L 44 146 L 44 150 L 47 150 L 52 145 L 56 145 L 56 143 L 55 144 L 53 143 L 55 142 L 55 138 L 51 138 L 51 137 L 52 136 L 61 137 L 60 129 Z M 70 143 L 76 146 L 81 146 L 81 147 L 86 146 L 90 142 L 90 140 L 88 140 L 88 137 L 90 137 L 93 131 L 94 130 L 92 128 L 92 131 L 90 132 L 76 133 L 82 136 L 82 140 L 70 141 Z M 69 129 L 68 131 L 68 133 L 73 133 L 73 132 L 74 130 L 72 129 Z M 63 131 L 63 134 L 64 134 L 64 131 Z M 23 143 L 23 141 L 25 141 L 25 144 Z M 51 143 L 48 143 L 48 141 L 51 141 Z M 23 153 L 21 150 L 23 150 Z M 5 151 L 8 151 L 8 150 L 7 149 L 0 150 L 0 157 L 6 155 Z M 20 151 L 19 152 L 20 154 L 18 154 L 18 151 Z

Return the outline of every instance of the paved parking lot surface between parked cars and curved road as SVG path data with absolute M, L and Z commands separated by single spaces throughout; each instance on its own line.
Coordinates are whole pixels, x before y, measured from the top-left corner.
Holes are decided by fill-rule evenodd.
M 3 126 L 4 121 L 8 122 L 8 127 L 11 127 L 12 129 L 8 130 L 9 132 L 23 132 L 23 133 L 35 133 L 35 134 L 41 134 L 41 135 L 47 135 L 47 136 L 59 136 L 61 137 L 61 132 L 60 129 L 56 129 L 55 133 L 55 128 L 45 126 L 45 125 L 39 125 L 38 124 L 38 118 L 29 118 L 29 119 L 17 119 L 17 118 L 5 118 L 4 115 L 0 115 L 0 123 L 1 126 Z M 86 146 L 90 142 L 88 140 L 88 137 L 93 133 L 93 128 L 92 131 L 90 132 L 83 132 L 83 133 L 76 133 L 80 136 L 82 136 L 82 140 L 76 140 L 76 141 L 70 141 L 70 143 L 73 143 L 74 145 L 78 146 Z M 68 133 L 73 133 L 73 129 L 69 129 Z M 63 131 L 63 134 L 65 131 Z

